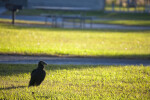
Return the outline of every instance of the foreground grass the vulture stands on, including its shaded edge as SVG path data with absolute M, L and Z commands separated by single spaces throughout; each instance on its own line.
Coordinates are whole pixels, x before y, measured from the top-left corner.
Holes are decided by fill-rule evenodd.
M 0 64 L 0 99 L 150 99 L 150 66 L 48 65 L 43 83 L 28 88 L 34 68 Z

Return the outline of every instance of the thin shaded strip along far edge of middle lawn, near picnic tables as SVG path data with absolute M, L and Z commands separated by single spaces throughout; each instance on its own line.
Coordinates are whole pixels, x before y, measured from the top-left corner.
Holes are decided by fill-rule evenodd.
M 150 30 L 118 30 L 118 29 L 74 29 L 74 28 L 67 28 L 67 29 L 64 29 L 64 28 L 49 28 L 49 27 L 43 27 L 45 25 L 41 25 L 41 27 L 39 27 L 39 24 L 30 24 L 30 26 L 27 26 L 28 24 L 27 23 L 22 23 L 22 25 L 11 25 L 10 22 L 1 22 L 0 26 L 3 27 L 3 28 L 9 28 L 9 29 L 18 29 L 18 30 L 21 30 L 21 29 L 31 29 L 32 31 L 37 31 L 37 30 L 40 30 L 40 31 L 55 31 L 55 32 L 62 32 L 62 31 L 73 31 L 73 32 L 82 32 L 83 34 L 86 33 L 86 32 L 105 32 L 105 33 L 112 33 L 112 32 L 121 32 L 121 33 L 128 33 L 129 32 L 131 34 L 133 34 L 132 32 L 135 32 L 135 33 L 147 33 L 149 32 Z M 33 26 L 32 26 L 33 25 Z

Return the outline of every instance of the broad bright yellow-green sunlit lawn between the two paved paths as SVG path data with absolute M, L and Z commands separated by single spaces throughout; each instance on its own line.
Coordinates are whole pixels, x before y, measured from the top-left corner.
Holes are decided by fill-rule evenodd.
M 150 31 L 53 29 L 0 24 L 0 53 L 150 58 Z

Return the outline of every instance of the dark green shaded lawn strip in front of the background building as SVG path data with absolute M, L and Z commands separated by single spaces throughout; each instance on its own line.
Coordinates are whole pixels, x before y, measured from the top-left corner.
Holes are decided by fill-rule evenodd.
M 44 10 L 44 9 L 23 9 L 17 15 L 40 16 L 42 14 L 74 15 L 82 14 L 86 16 L 96 16 L 98 18 L 110 19 L 132 19 L 132 20 L 150 20 L 147 13 L 105 13 L 103 11 L 63 11 L 63 10 Z M 3 15 L 11 15 L 10 11 Z

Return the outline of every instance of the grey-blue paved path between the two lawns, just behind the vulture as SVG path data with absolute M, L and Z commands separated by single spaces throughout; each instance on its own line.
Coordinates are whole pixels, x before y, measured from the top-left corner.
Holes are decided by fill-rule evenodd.
M 69 57 L 41 57 L 41 56 L 13 56 L 0 55 L 3 64 L 37 64 L 43 60 L 48 64 L 74 65 L 144 65 L 150 66 L 150 60 L 140 59 L 108 59 L 108 58 L 69 58 Z

